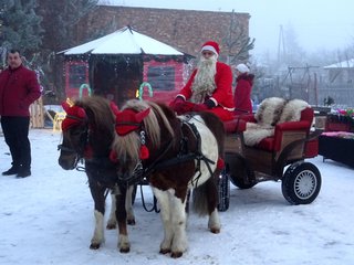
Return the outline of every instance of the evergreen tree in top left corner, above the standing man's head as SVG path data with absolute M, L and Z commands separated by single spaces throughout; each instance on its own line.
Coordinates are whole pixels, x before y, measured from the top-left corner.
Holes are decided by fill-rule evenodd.
M 37 15 L 37 0 L 0 0 L 1 51 L 19 49 L 32 56 L 42 44 L 42 18 Z

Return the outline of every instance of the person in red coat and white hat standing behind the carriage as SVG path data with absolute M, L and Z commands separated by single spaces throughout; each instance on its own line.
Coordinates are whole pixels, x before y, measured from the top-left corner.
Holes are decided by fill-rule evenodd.
M 236 66 L 237 84 L 233 97 L 236 115 L 252 113 L 251 92 L 254 75 L 249 72 L 250 70 L 246 64 L 238 64 Z

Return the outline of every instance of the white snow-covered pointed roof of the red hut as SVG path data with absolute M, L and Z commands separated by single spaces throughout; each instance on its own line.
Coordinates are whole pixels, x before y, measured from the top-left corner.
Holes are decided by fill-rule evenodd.
M 125 26 L 108 35 L 94 41 L 67 49 L 60 53 L 71 54 L 154 54 L 154 55 L 184 55 L 175 47 L 169 46 L 150 36 Z

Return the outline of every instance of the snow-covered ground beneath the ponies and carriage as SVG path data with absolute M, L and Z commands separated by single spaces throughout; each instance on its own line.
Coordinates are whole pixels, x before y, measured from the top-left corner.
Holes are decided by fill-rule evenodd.
M 309 161 L 322 174 L 322 189 L 309 205 L 290 205 L 281 183 L 267 181 L 250 190 L 231 184 L 231 201 L 220 213 L 220 234 L 207 230 L 207 219 L 190 213 L 189 248 L 181 258 L 158 254 L 162 222 L 135 201 L 136 225 L 129 226 L 131 252 L 117 250 L 115 231 L 88 248 L 93 201 L 84 172 L 58 165 L 61 134 L 32 129 L 32 176 L 0 176 L 0 264 L 354 264 L 353 169 L 319 156 Z M 0 171 L 11 158 L 0 137 Z M 152 202 L 148 187 L 144 195 Z M 107 204 L 108 205 L 108 204 Z

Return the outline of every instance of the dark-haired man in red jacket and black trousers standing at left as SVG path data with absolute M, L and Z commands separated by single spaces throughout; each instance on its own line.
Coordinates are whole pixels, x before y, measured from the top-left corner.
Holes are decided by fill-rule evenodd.
M 1 127 L 12 157 L 12 167 L 2 172 L 3 176 L 31 176 L 29 107 L 40 96 L 41 89 L 35 73 L 22 65 L 18 50 L 11 50 L 8 53 L 8 68 L 0 73 Z

